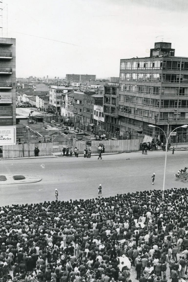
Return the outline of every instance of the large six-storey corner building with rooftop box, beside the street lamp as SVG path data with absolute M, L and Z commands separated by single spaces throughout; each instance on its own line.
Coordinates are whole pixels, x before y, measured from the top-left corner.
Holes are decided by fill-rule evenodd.
M 150 57 L 120 60 L 118 116 L 120 135 L 134 130 L 163 140 L 167 133 L 188 122 L 188 58 L 175 57 L 171 43 L 155 43 Z M 177 129 L 170 142 L 187 142 L 187 129 Z

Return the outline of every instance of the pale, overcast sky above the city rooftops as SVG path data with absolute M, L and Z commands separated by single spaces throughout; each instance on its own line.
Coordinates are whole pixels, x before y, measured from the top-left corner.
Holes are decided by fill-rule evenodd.
M 3 0 L 1 7 L 1 36 L 16 38 L 16 77 L 119 76 L 120 59 L 147 57 L 162 40 L 188 57 L 187 0 Z

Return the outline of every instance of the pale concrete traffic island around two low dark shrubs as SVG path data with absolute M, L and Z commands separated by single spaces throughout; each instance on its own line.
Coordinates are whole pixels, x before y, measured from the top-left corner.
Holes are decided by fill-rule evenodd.
M 0 185 L 8 185 L 8 184 L 26 184 L 26 183 L 34 183 L 42 180 L 42 177 L 34 174 L 23 174 L 25 179 L 22 180 L 14 180 L 13 176 L 16 174 L 3 174 L 6 176 L 5 181 L 0 181 Z

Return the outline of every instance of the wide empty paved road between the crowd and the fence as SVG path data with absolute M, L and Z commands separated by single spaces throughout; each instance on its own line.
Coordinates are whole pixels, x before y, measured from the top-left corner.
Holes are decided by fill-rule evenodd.
M 187 151 L 168 152 L 166 188 L 187 187 L 188 183 L 175 180 L 174 173 L 188 164 Z M 41 167 L 44 164 L 45 168 Z M 162 189 L 164 152 L 122 153 L 88 158 L 59 157 L 47 159 L 1 160 L 1 174 L 36 174 L 42 181 L 30 184 L 1 185 L 0 204 L 22 204 L 52 201 L 55 188 L 59 200 L 97 197 L 98 186 L 103 186 L 103 196 L 140 190 Z M 154 185 L 151 175 L 156 173 Z

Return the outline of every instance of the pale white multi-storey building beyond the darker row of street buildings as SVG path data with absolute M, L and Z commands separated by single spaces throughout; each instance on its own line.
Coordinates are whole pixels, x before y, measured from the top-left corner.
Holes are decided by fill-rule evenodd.
M 50 107 L 55 109 L 56 112 L 61 112 L 61 96 L 69 91 L 72 91 L 72 87 L 51 85 L 50 87 Z

